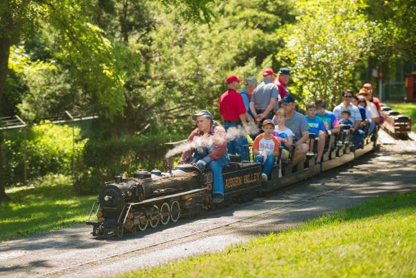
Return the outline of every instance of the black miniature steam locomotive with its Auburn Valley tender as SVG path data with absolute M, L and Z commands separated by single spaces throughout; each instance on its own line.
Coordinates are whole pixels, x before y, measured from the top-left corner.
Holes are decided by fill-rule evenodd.
M 211 208 L 211 170 L 194 164 L 172 168 L 172 162 L 165 159 L 165 172 L 137 171 L 133 177 L 116 176 L 106 183 L 86 222 L 93 226 L 92 234 L 121 237 L 124 232 L 167 225 Z M 226 202 L 252 199 L 262 187 L 259 163 L 231 162 L 222 169 L 222 178 Z

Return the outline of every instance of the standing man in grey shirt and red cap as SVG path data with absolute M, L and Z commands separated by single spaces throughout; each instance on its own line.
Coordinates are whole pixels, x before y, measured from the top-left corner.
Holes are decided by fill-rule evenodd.
M 250 99 L 250 110 L 256 121 L 273 118 L 273 109 L 278 101 L 278 87 L 273 83 L 275 73 L 271 68 L 263 70 L 264 81 L 253 92 Z

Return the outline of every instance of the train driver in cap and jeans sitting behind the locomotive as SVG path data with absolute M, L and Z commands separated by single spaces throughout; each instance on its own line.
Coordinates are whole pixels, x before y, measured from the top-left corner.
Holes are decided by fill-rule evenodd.
M 198 167 L 208 165 L 214 175 L 213 202 L 220 203 L 224 200 L 222 167 L 229 164 L 226 133 L 207 110 L 192 115 L 192 119 L 198 127 L 191 132 L 187 142 L 194 142 L 195 148 L 183 152 L 180 163 L 185 163 L 189 157 Z

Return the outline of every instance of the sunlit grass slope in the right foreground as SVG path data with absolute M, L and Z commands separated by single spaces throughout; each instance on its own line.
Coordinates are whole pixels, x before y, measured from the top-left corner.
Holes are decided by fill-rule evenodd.
M 416 192 L 123 277 L 415 277 Z

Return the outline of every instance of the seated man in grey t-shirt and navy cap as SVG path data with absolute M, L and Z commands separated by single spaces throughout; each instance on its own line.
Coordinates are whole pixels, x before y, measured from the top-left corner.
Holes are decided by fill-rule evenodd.
M 282 108 L 286 112 L 286 122 L 284 123 L 287 128 L 292 130 L 294 134 L 294 140 L 296 144 L 295 155 L 292 159 L 293 165 L 296 165 L 304 161 L 306 157 L 306 152 L 309 151 L 309 146 L 306 143 L 309 139 L 309 124 L 306 121 L 304 115 L 300 112 L 296 112 L 296 103 L 295 99 L 290 95 L 287 95 L 282 100 Z M 273 117 L 273 122 L 278 124 L 278 121 Z

